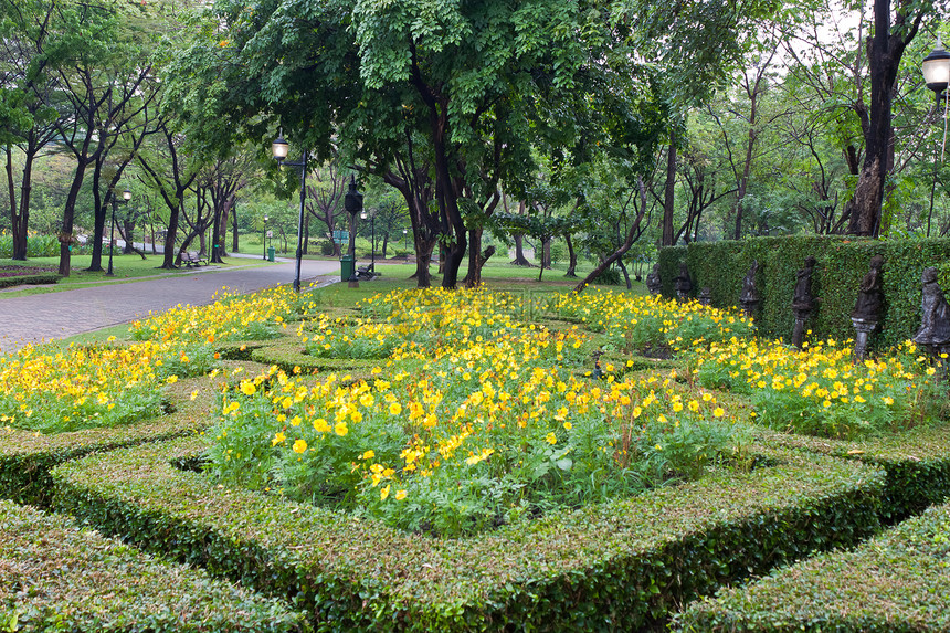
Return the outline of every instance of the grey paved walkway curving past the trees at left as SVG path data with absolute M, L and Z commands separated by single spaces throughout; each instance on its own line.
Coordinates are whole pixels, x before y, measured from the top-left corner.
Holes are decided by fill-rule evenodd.
M 128 323 L 149 310 L 163 312 L 178 304 L 210 304 L 222 287 L 249 293 L 293 282 L 294 261 L 278 262 L 264 267 L 202 267 L 168 277 L 25 297 L 0 296 L 0 351 Z M 304 260 L 302 284 L 339 279 L 339 270 L 336 261 Z

